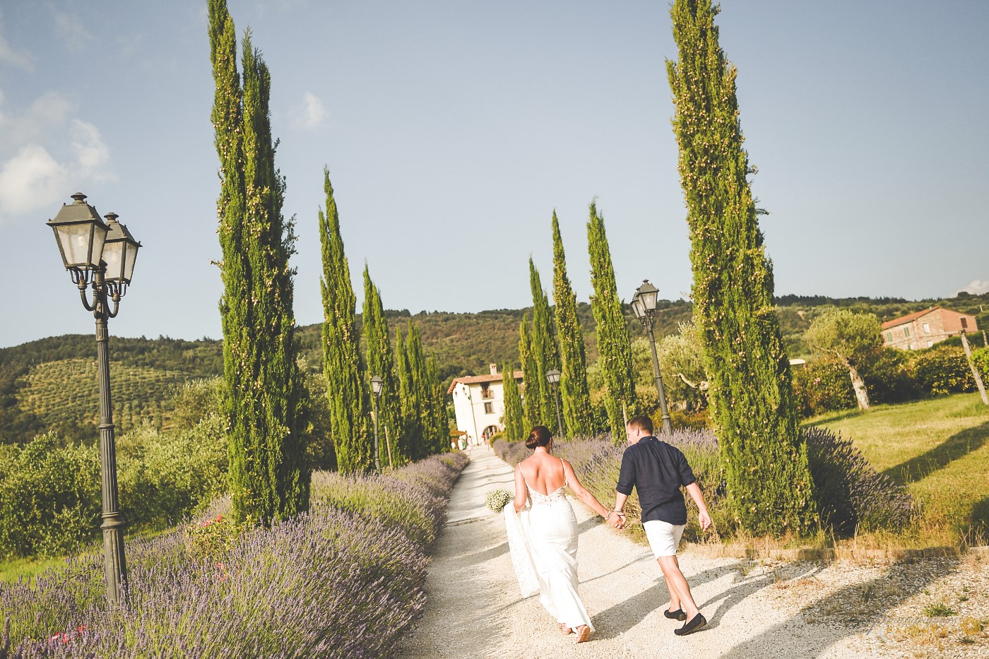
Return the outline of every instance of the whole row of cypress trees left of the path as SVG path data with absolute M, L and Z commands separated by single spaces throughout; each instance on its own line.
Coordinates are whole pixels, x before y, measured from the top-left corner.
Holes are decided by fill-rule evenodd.
M 307 394 L 292 310 L 295 271 L 289 266 L 296 235 L 282 215 L 285 179 L 275 168 L 268 67 L 248 31 L 238 71 L 236 34 L 225 0 L 209 0 L 208 23 L 216 84 L 211 120 L 220 158 L 217 213 L 223 257 L 218 265 L 224 283 L 220 313 L 230 493 L 235 520 L 268 524 L 309 508 Z M 394 445 L 386 445 L 392 462 L 444 450 L 449 429 L 436 361 L 425 358 L 411 323 L 393 353 L 381 296 L 367 267 L 362 359 L 356 298 L 326 170 L 323 187 L 321 343 L 339 469 L 372 468 L 369 374 L 385 383 L 380 421 L 385 441 L 394 439 Z M 387 450 L 382 458 L 389 459 Z

